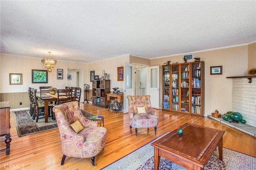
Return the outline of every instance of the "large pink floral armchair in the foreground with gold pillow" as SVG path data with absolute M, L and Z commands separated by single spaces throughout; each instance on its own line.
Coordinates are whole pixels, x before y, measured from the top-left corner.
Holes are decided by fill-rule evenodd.
M 60 131 L 62 145 L 62 160 L 64 164 L 66 156 L 76 158 L 91 158 L 94 164 L 95 156 L 105 147 L 106 128 L 97 127 L 96 121 L 90 121 L 84 117 L 78 102 L 68 102 L 52 109 Z M 77 121 L 78 120 L 78 121 Z M 76 133 L 74 124 L 78 123 L 82 130 Z M 82 125 L 82 126 L 81 126 Z

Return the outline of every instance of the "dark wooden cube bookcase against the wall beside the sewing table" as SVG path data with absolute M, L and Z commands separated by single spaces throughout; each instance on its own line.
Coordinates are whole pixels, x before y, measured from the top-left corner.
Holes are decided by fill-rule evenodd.
M 107 108 L 109 101 L 107 93 L 110 93 L 110 80 L 92 81 L 92 105 Z

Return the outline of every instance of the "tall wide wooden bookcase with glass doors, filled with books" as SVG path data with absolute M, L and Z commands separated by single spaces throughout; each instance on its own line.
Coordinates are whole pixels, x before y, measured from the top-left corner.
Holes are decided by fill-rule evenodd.
M 162 110 L 204 115 L 204 62 L 163 65 Z

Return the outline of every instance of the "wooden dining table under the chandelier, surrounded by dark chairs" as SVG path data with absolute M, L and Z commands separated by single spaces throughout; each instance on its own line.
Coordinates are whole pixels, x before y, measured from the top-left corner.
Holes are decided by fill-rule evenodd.
M 57 103 L 57 94 L 50 93 L 37 93 L 36 97 L 44 101 L 44 122 L 48 122 L 48 102 L 56 102 Z M 72 101 L 76 100 L 76 96 L 72 96 Z

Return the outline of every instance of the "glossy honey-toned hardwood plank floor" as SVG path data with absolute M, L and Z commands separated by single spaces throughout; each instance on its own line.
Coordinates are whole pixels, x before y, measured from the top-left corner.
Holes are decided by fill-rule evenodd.
M 6 152 L 1 152 L 0 169 L 98 170 L 186 122 L 224 130 L 223 147 L 256 157 L 256 138 L 207 117 L 181 115 L 155 109 L 159 116 L 156 135 L 154 128 L 138 129 L 138 136 L 135 137 L 135 129 L 129 129 L 128 114 L 107 111 L 108 109 L 91 104 L 80 104 L 80 108 L 104 116 L 107 141 L 104 150 L 95 157 L 97 166 L 92 166 L 90 158 L 71 157 L 67 157 L 64 165 L 61 166 L 62 151 L 58 129 L 18 137 L 11 113 L 11 150 L 9 156 L 6 156 Z M 1 149 L 5 148 L 4 139 L 5 137 L 1 137 Z

